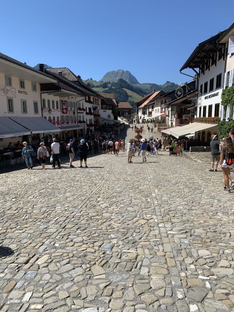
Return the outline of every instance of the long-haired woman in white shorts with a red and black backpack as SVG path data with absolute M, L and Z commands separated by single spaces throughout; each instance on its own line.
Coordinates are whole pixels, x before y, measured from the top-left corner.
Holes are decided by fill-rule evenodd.
M 221 156 L 220 156 L 220 166 L 224 176 L 224 193 L 231 193 L 229 178 L 230 170 L 234 168 L 234 145 L 231 137 L 225 137 Z

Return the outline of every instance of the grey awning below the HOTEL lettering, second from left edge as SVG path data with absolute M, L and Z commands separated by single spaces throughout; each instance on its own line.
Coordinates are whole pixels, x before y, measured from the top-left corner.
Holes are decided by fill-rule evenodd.
M 54 126 L 51 122 L 42 117 L 9 117 L 19 125 L 35 133 L 60 132 L 59 127 Z

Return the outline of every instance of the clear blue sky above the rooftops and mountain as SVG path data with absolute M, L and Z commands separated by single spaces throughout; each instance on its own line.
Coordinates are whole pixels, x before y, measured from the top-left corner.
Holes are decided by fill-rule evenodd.
M 141 83 L 180 83 L 196 45 L 228 28 L 233 12 L 234 0 L 3 1 L 0 52 L 82 79 L 123 69 Z

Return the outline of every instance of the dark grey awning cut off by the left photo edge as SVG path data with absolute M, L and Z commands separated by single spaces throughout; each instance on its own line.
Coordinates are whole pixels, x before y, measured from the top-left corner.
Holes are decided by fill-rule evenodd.
M 0 138 L 31 135 L 30 131 L 9 117 L 0 117 Z

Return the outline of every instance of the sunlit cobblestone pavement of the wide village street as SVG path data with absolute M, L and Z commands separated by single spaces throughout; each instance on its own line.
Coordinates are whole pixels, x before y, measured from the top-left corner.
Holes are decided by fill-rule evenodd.
M 234 311 L 222 173 L 168 152 L 133 162 L 0 176 L 0 312 Z

